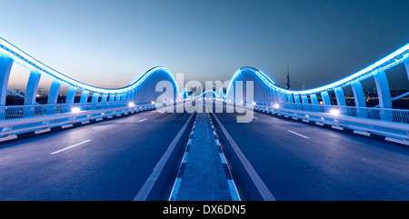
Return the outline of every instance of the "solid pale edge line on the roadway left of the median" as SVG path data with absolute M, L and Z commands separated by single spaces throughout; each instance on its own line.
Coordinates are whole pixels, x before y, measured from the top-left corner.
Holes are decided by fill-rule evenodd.
M 174 152 L 176 144 L 179 142 L 180 138 L 182 137 L 182 134 L 185 133 L 187 124 L 190 123 L 190 120 L 192 119 L 193 115 L 194 114 L 190 115 L 190 117 L 187 119 L 184 126 L 180 129 L 179 133 L 176 134 L 175 139 L 169 145 L 169 147 L 165 151 L 165 154 L 162 155 L 159 162 L 155 165 L 155 168 L 152 171 L 152 174 L 149 175 L 149 177 L 145 181 L 145 184 L 142 185 L 142 188 L 139 190 L 138 194 L 135 195 L 134 201 L 145 201 L 147 196 L 151 193 L 151 190 L 154 187 L 157 178 L 159 178 L 159 175 L 162 173 L 162 170 L 165 168 L 165 164 L 167 163 L 167 160 L 169 160 L 169 157 Z

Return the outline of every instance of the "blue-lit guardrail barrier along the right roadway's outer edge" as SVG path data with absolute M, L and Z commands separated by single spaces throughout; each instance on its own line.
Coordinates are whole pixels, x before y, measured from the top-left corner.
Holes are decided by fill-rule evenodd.
M 224 102 L 226 105 L 254 109 L 271 114 L 281 114 L 306 122 L 330 124 L 334 127 L 349 128 L 367 134 L 380 134 L 392 137 L 408 144 L 409 110 L 340 105 L 303 105 L 277 103 L 273 105 L 256 105 L 255 103 Z

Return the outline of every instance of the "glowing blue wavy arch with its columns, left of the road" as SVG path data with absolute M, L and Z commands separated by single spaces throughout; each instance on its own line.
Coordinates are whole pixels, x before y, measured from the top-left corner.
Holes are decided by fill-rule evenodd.
M 183 96 L 183 93 L 179 92 L 174 75 L 163 66 L 149 69 L 130 85 L 113 89 L 87 85 L 64 75 L 36 60 L 31 55 L 27 55 L 24 51 L 5 41 L 3 38 L 0 38 L 0 53 L 0 105 L 5 105 L 8 77 L 14 63 L 22 65 L 31 71 L 25 95 L 25 99 L 29 99 L 25 100 L 25 104 L 27 105 L 35 104 L 36 90 L 41 76 L 45 76 L 53 81 L 47 104 L 56 103 L 56 97 L 58 96 L 61 85 L 69 86 L 65 103 L 74 102 L 74 96 L 77 89 L 82 90 L 81 103 L 86 102 L 90 93 L 94 94 L 92 102 L 97 102 L 98 99 L 100 99 L 101 102 L 130 100 L 138 102 L 155 101 L 157 96 L 161 95 L 160 93 L 155 92 L 155 85 L 162 80 L 171 82 L 174 86 L 173 99 Z

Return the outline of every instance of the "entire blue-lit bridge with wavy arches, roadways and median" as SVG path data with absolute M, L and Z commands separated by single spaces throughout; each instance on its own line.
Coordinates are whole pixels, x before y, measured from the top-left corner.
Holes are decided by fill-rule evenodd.
M 409 200 L 409 110 L 396 104 L 409 93 L 388 83 L 403 67 L 409 88 L 408 56 L 409 44 L 307 90 L 250 66 L 205 92 L 162 66 L 104 88 L 0 38 L 0 200 Z M 25 92 L 14 65 L 29 70 Z

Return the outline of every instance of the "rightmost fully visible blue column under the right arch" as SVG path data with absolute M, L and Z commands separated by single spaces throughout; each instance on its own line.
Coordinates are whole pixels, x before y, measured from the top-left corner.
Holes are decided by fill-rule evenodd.
M 392 108 L 391 91 L 389 90 L 388 79 L 383 71 L 377 71 L 374 75 L 376 93 L 378 94 L 379 106 L 381 108 Z

